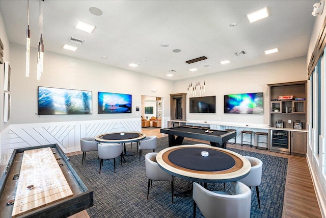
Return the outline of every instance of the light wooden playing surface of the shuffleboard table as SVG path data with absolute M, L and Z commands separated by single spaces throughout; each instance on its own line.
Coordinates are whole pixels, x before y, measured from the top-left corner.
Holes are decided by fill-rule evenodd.
M 70 196 L 72 191 L 50 148 L 24 151 L 12 217 Z

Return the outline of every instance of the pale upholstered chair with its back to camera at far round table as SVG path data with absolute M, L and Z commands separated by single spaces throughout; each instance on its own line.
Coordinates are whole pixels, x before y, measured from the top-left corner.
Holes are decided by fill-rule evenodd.
M 113 159 L 114 163 L 114 172 L 116 173 L 116 157 L 121 157 L 121 164 L 122 164 L 122 152 L 123 152 L 123 144 L 121 143 L 103 143 L 98 144 L 98 157 L 100 159 L 100 170 L 99 174 L 101 173 L 101 166 L 103 165 L 103 159 Z

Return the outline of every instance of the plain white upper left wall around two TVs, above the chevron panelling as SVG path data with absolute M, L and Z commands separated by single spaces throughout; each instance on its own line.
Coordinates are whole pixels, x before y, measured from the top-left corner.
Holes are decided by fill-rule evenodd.
M 36 50 L 31 60 L 36 60 Z M 31 63 L 30 77 L 24 76 L 25 47 L 11 44 L 12 71 L 12 119 L 11 124 L 65 122 L 71 120 L 94 120 L 141 117 L 141 95 L 153 95 L 153 84 L 157 90 L 155 95 L 169 101 L 173 82 L 119 69 L 103 64 L 71 58 L 55 53 L 45 52 L 44 72 L 41 80 L 36 80 L 36 62 Z M 146 81 L 146 82 L 144 82 Z M 47 86 L 90 90 L 93 92 L 93 114 L 91 115 L 37 115 L 37 87 Z M 97 92 L 116 92 L 132 94 L 131 114 L 97 114 Z M 169 115 L 169 103 L 165 104 L 166 115 Z

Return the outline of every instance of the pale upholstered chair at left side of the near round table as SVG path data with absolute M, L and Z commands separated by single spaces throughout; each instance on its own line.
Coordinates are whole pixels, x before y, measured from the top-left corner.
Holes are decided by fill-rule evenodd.
M 156 162 L 156 152 L 145 155 L 146 176 L 148 178 L 147 199 L 149 195 L 149 186 L 152 186 L 152 181 L 171 181 L 171 193 L 173 202 L 173 176 L 161 169 Z

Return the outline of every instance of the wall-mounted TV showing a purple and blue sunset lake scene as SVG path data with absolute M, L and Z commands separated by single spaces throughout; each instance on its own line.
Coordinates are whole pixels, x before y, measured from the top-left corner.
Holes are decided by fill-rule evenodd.
M 131 94 L 99 91 L 98 113 L 131 113 Z

